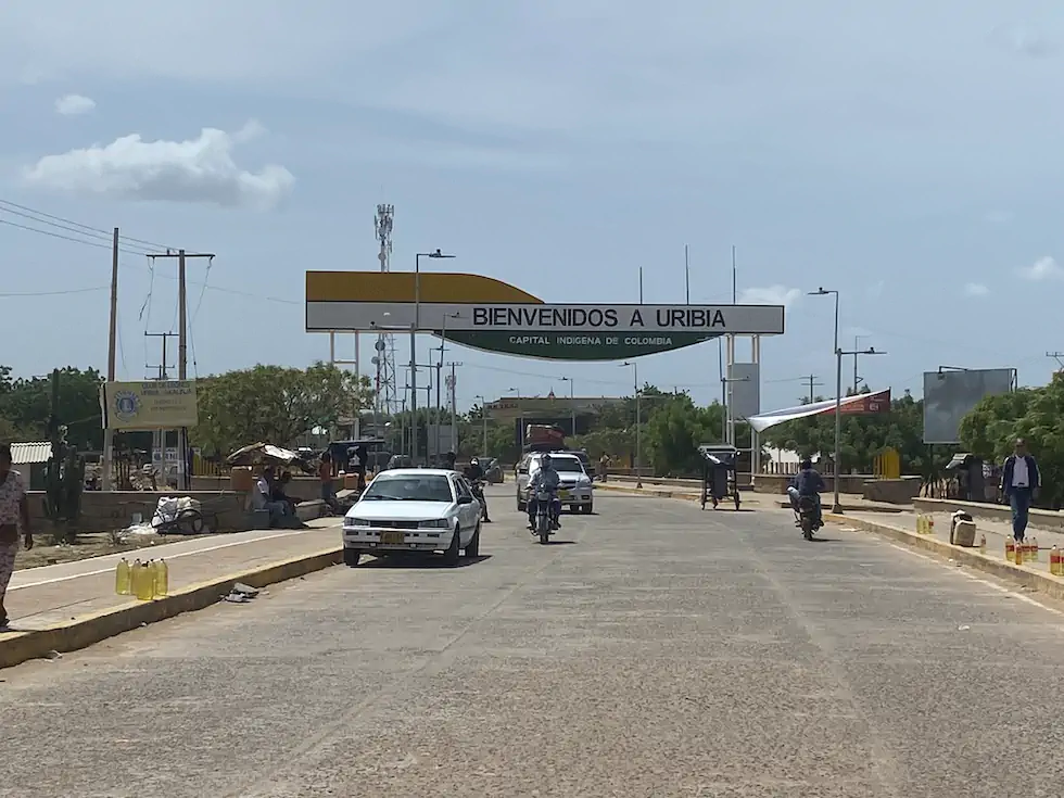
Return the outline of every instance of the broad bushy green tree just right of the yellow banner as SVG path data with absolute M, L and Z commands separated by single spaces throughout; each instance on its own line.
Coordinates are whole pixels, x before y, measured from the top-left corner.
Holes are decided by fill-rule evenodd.
M 228 455 L 266 442 L 292 445 L 315 427 L 329 429 L 372 404 L 366 377 L 316 363 L 307 369 L 263 366 L 199 380 L 193 445 Z

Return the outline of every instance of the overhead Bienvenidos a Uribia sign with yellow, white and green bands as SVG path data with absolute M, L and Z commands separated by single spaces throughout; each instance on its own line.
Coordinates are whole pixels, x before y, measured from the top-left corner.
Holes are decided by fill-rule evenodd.
M 720 335 L 780 335 L 783 305 L 548 304 L 481 275 L 307 271 L 307 332 L 414 329 L 486 352 L 619 360 Z

